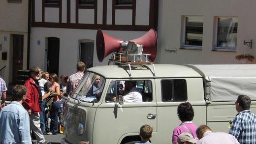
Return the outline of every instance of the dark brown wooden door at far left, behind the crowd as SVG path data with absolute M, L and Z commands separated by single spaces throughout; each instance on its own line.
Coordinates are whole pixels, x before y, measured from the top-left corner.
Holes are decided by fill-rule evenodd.
M 17 83 L 18 70 L 22 70 L 23 65 L 23 44 L 24 35 L 13 35 L 13 63 L 12 63 L 12 83 Z

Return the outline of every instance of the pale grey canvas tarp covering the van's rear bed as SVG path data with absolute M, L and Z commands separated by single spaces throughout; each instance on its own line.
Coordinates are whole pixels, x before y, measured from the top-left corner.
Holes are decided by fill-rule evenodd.
M 186 65 L 211 81 L 211 101 L 236 101 L 240 94 L 256 100 L 256 64 Z

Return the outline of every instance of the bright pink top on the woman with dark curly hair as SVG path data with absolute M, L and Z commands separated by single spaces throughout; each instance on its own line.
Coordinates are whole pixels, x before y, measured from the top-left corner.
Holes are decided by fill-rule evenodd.
M 198 140 L 197 136 L 196 136 L 196 129 L 197 129 L 197 126 L 192 123 L 192 122 L 184 122 L 182 123 L 183 125 L 186 125 L 190 131 L 187 130 L 187 128 L 185 128 L 183 125 L 179 125 L 177 126 L 174 130 L 173 130 L 173 134 L 172 134 L 172 144 L 178 144 L 178 137 L 181 133 L 192 133 L 192 136 Z

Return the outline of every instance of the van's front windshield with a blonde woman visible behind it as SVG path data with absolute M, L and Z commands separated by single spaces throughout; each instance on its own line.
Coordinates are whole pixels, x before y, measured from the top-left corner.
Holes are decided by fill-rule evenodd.
M 71 97 L 84 102 L 98 102 L 104 85 L 105 79 L 103 77 L 86 72 Z

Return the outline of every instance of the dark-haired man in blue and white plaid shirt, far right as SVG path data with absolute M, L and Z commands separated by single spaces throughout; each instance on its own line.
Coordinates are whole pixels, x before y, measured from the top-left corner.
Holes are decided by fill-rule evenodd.
M 256 115 L 250 110 L 251 99 L 247 95 L 239 95 L 235 108 L 238 114 L 233 118 L 229 134 L 240 144 L 256 144 Z

